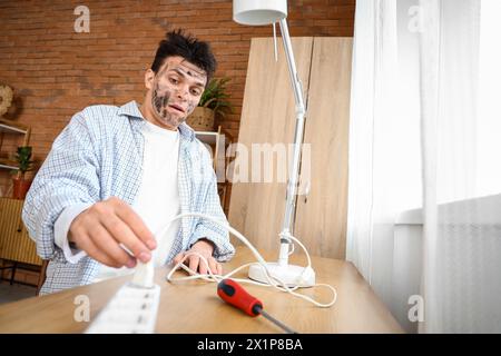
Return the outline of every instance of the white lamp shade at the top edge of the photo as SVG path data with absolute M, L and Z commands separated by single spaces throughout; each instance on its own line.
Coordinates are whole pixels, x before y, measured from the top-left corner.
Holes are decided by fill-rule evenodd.
M 233 0 L 235 22 L 262 26 L 287 17 L 287 0 Z

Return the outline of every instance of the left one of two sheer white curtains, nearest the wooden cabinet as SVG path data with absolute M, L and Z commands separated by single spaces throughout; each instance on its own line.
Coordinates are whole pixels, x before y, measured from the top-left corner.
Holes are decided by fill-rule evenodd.
M 418 96 L 419 77 L 400 73 L 399 58 L 418 62 L 402 55 L 396 20 L 396 0 L 356 2 L 346 259 L 386 304 L 395 216 L 422 201 L 419 102 L 407 99 Z

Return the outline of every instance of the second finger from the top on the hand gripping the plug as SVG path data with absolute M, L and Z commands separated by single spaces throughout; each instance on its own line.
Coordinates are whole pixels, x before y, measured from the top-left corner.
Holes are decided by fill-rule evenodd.
M 101 224 L 118 243 L 124 244 L 136 258 L 147 263 L 151 258 L 150 249 L 132 233 L 132 230 L 117 216 L 100 217 Z

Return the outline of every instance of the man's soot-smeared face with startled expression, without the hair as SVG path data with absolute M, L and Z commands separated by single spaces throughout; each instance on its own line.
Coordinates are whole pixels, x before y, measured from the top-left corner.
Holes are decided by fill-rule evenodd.
M 183 57 L 169 57 L 159 71 L 150 72 L 151 110 L 160 126 L 177 128 L 195 110 L 207 82 L 207 75 Z

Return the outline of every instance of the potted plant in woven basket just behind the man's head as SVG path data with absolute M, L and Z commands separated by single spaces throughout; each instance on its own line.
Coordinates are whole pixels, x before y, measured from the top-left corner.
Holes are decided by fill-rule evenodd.
M 212 79 L 202 95 L 198 107 L 187 119 L 187 123 L 197 131 L 214 130 L 214 119 L 216 116 L 225 117 L 233 112 L 232 103 L 227 100 L 226 83 L 229 78 Z

